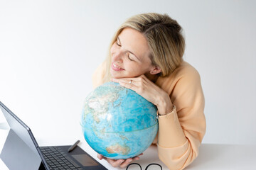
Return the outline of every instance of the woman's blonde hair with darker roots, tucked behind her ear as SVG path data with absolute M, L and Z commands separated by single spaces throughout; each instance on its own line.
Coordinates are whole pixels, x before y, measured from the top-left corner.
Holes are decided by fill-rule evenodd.
M 133 28 L 142 33 L 149 45 L 149 56 L 153 65 L 161 68 L 159 76 L 165 77 L 178 67 L 183 61 L 185 40 L 182 28 L 177 21 L 167 14 L 142 13 L 128 18 L 117 30 L 109 47 L 109 54 L 105 60 L 106 74 L 103 82 L 110 81 L 111 54 L 110 48 L 117 41 L 118 35 L 124 28 Z

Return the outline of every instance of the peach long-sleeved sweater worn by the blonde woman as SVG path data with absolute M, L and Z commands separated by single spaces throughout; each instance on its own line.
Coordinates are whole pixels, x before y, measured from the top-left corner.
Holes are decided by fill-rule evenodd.
M 102 63 L 93 74 L 94 87 L 102 84 L 104 75 Z M 169 169 L 184 169 L 198 156 L 206 132 L 201 79 L 194 67 L 182 62 L 168 77 L 159 77 L 156 85 L 169 94 L 174 110 L 159 115 L 159 132 L 153 144 L 157 145 L 159 159 Z

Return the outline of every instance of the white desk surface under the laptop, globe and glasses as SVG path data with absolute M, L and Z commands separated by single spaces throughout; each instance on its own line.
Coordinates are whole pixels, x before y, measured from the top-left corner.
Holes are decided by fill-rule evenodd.
M 0 130 L 0 152 L 4 145 L 5 139 L 9 130 Z M 87 145 L 82 136 L 78 137 L 81 141 L 79 146 L 86 152 L 91 154 L 92 157 L 97 159 L 97 154 Z M 38 145 L 72 145 L 73 140 L 65 139 L 37 139 Z M 64 141 L 64 142 L 63 142 Z M 159 160 L 156 154 L 156 147 L 151 146 L 146 149 L 144 155 L 137 163 L 142 165 L 145 169 L 146 165 L 150 163 L 157 163 L 167 169 L 166 166 Z M 186 169 L 255 169 L 256 167 L 256 145 L 216 145 L 216 144 L 202 144 L 200 147 L 198 158 L 189 165 Z M 97 159 L 98 160 L 98 159 Z M 105 160 L 100 161 L 107 169 L 113 168 Z M 132 167 L 132 166 L 131 166 Z M 8 169 L 4 162 L 0 159 L 0 169 Z

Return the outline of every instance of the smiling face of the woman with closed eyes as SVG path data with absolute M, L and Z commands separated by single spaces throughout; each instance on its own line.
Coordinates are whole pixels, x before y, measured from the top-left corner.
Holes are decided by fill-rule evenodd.
M 122 30 L 110 52 L 110 73 L 113 78 L 138 77 L 154 69 L 149 59 L 150 50 L 146 38 L 132 28 Z

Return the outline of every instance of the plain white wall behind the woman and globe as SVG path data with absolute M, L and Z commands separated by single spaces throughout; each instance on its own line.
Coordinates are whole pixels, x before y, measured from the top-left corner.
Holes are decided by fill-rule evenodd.
M 242 0 L 0 1 L 0 101 L 36 136 L 56 137 L 48 128 L 58 136 L 80 132 L 92 72 L 114 31 L 134 14 L 168 13 L 183 27 L 185 60 L 201 74 L 203 142 L 255 144 L 255 6 Z

